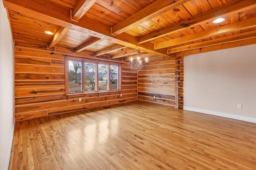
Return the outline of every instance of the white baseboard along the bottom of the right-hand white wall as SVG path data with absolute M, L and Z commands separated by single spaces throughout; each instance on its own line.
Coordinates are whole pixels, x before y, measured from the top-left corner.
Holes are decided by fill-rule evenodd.
M 183 109 L 187 110 L 187 111 L 194 111 L 194 112 L 199 112 L 199 113 L 205 113 L 205 114 L 208 114 L 208 115 L 214 115 L 214 116 L 226 117 L 226 118 L 230 118 L 230 119 L 236 119 L 236 120 L 240 120 L 240 121 L 256 123 L 256 118 L 253 118 L 253 117 L 245 117 L 245 116 L 240 116 L 240 115 L 232 115 L 232 114 L 229 114 L 229 113 L 209 111 L 209 110 L 197 109 L 197 108 L 186 107 L 186 106 L 184 106 Z

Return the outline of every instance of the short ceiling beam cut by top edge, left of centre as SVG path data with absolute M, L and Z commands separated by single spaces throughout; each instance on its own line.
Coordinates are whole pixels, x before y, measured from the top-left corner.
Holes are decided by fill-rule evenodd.
M 96 0 L 78 0 L 71 10 L 70 19 L 78 22 L 95 2 Z

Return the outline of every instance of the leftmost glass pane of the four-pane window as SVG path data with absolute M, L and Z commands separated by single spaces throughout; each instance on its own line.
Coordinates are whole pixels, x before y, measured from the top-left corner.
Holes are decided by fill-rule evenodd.
M 75 93 L 82 91 L 80 61 L 68 61 L 68 92 Z

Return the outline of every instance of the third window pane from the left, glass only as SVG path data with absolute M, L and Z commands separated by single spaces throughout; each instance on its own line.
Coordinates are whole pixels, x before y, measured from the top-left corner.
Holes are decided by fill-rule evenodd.
M 108 65 L 99 64 L 98 66 L 99 91 L 108 90 Z

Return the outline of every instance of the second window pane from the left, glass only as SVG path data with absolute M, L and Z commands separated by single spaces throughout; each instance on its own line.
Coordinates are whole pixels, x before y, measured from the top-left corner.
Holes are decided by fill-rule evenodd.
M 95 91 L 96 64 L 85 63 L 85 91 Z

